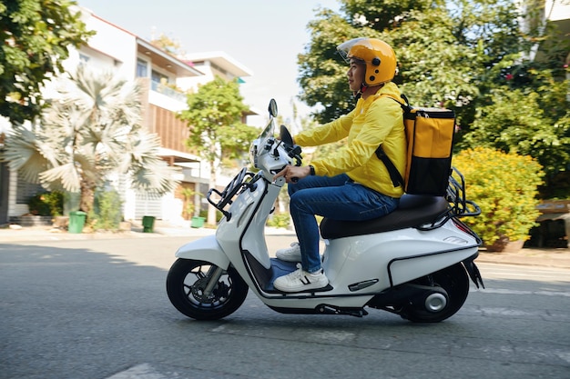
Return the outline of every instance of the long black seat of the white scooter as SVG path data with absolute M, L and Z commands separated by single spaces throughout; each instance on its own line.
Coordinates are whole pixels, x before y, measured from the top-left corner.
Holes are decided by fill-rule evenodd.
M 321 236 L 325 239 L 374 234 L 392 230 L 417 227 L 433 223 L 449 209 L 442 196 L 404 194 L 400 205 L 391 214 L 366 221 L 342 221 L 324 218 L 321 221 Z

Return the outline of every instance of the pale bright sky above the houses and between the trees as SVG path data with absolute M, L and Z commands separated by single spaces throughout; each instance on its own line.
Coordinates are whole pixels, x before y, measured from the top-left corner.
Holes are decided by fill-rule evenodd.
M 301 115 L 310 109 L 296 98 L 297 55 L 310 42 L 307 25 L 316 10 L 339 10 L 338 0 L 77 0 L 97 16 L 139 37 L 164 34 L 188 54 L 223 51 L 253 75 L 240 86 L 244 103 L 260 112 L 262 125 L 270 99 L 292 117 L 291 99 Z

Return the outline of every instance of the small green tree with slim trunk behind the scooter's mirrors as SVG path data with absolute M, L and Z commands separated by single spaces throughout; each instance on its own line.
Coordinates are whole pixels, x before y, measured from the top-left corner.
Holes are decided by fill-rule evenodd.
M 239 95 L 237 81 L 228 82 L 216 76 L 188 95 L 188 109 L 178 117 L 190 129 L 187 145 L 209 163 L 209 186 L 216 186 L 217 168 L 243 157 L 259 131 L 241 123 L 248 110 Z M 216 224 L 216 213 L 209 207 L 208 224 Z

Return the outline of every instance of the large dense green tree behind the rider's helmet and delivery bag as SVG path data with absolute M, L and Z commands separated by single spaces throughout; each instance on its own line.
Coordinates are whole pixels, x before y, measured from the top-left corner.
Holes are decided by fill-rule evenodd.
M 380 38 L 394 47 L 399 67 L 394 81 L 412 105 L 455 111 L 457 151 L 483 143 L 471 132 L 514 134 L 493 147 L 532 155 L 554 185 L 556 175 L 570 166 L 570 117 L 568 107 L 559 106 L 566 102 L 568 48 L 555 43 L 561 37 L 549 25 L 537 21 L 542 18 L 535 12 L 540 13 L 544 2 L 536 3 L 529 1 L 524 14 L 512 0 L 341 0 L 341 15 L 324 9 L 309 24 L 310 44 L 298 58 L 300 98 L 310 106 L 321 105 L 314 114 L 320 123 L 349 112 L 353 100 L 336 46 L 359 36 Z M 534 56 L 536 50 L 541 54 Z M 537 95 L 529 97 L 534 105 L 524 109 L 532 112 L 525 115 L 527 121 L 541 120 L 531 129 L 534 141 L 541 139 L 534 147 L 540 148 L 524 143 L 530 130 L 517 137 L 516 130 L 527 124 L 504 125 L 512 119 L 497 118 L 508 109 L 491 112 L 497 101 L 514 112 L 509 103 L 514 90 L 520 91 L 521 100 Z M 482 112 L 484 107 L 488 108 Z M 544 109 L 551 111 L 544 115 Z M 523 145 L 529 145 L 524 153 Z M 570 187 L 558 195 L 570 195 Z

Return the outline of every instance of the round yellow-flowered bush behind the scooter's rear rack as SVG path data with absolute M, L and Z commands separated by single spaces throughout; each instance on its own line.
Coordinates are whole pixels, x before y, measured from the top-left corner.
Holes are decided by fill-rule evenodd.
M 463 221 L 487 247 L 528 239 L 540 214 L 536 195 L 544 175 L 541 165 L 528 155 L 483 147 L 462 151 L 453 165 L 465 176 L 467 198 L 481 207 L 481 215 Z

